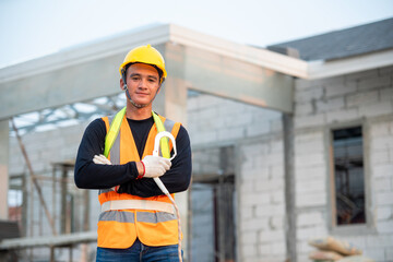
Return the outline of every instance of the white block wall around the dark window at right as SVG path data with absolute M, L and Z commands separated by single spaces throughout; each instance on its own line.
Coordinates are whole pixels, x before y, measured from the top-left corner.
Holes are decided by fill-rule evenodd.
M 327 217 L 330 126 L 364 122 L 366 174 L 371 198 L 372 230 L 338 235 L 376 261 L 393 261 L 393 67 L 295 85 L 295 166 L 298 261 L 307 261 L 310 238 L 332 235 Z M 367 132 L 369 132 L 367 134 Z M 368 140 L 369 139 L 369 140 Z M 366 170 L 367 171 L 367 170 Z

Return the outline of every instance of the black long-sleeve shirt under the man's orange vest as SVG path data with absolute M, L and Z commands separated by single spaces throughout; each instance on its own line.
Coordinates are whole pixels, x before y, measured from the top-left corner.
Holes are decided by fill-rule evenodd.
M 127 119 L 133 139 L 142 157 L 150 129 L 154 124 L 153 117 L 145 120 Z M 83 189 L 108 189 L 120 184 L 119 193 L 130 193 L 142 198 L 163 194 L 153 179 L 138 177 L 135 162 L 123 165 L 98 165 L 93 163 L 94 155 L 103 154 L 105 147 L 106 127 L 103 119 L 96 119 L 86 128 L 75 162 L 75 184 Z M 177 156 L 171 167 L 160 180 L 170 193 L 187 190 L 191 180 L 191 146 L 187 130 L 181 126 L 176 138 Z

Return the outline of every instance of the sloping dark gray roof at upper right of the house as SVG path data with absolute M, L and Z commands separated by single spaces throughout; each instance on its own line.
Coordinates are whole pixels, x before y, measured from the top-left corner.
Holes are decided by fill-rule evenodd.
M 306 61 L 333 60 L 393 48 L 393 17 L 352 28 L 267 46 Z

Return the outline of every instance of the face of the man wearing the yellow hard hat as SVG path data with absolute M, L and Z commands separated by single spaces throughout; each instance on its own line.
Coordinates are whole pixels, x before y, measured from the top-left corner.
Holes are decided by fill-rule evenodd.
M 141 106 L 151 105 L 160 87 L 157 70 L 144 63 L 130 66 L 126 72 L 126 81 L 131 100 Z

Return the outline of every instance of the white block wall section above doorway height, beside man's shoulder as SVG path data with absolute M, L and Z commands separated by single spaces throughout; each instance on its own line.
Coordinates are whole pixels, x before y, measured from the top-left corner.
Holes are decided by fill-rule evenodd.
M 281 114 L 273 110 L 210 95 L 188 99 L 187 128 L 195 145 L 267 134 L 281 127 Z

